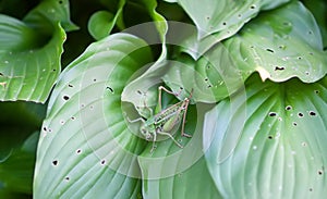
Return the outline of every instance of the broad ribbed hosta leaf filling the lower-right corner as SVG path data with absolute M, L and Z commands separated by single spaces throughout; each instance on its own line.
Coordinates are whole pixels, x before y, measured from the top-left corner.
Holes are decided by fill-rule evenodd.
M 246 100 L 235 95 L 207 113 L 206 160 L 225 198 L 326 196 L 326 80 L 263 84 L 255 75 Z

